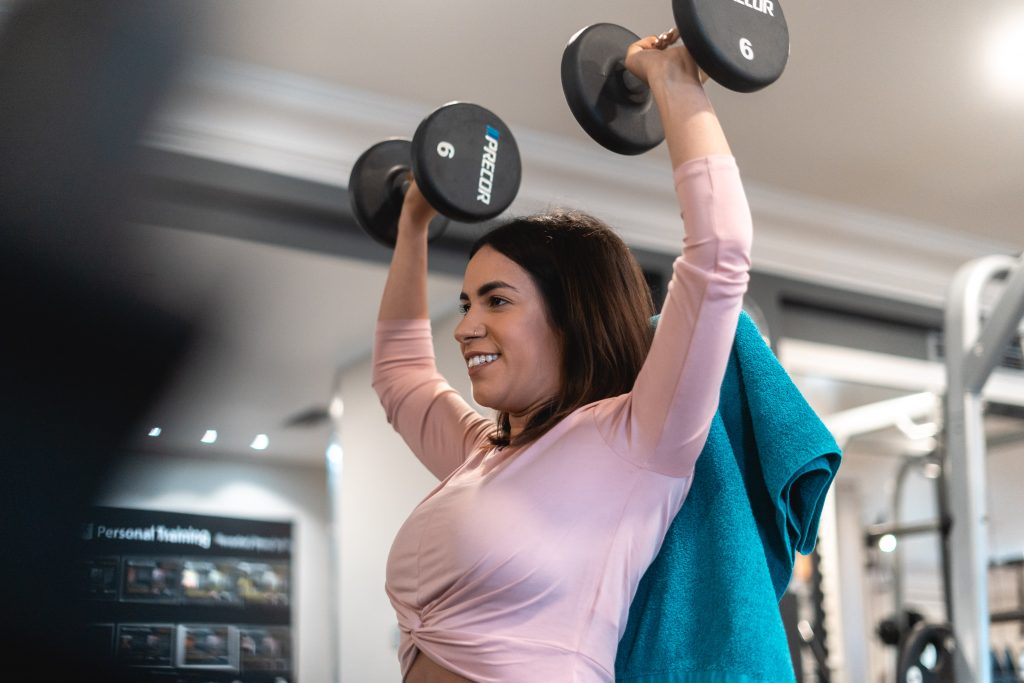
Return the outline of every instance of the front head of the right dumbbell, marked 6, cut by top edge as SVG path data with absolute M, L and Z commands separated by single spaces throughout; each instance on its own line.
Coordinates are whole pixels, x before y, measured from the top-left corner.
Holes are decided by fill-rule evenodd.
M 683 43 L 721 85 L 754 92 L 771 85 L 790 59 L 790 29 L 779 0 L 673 0 Z

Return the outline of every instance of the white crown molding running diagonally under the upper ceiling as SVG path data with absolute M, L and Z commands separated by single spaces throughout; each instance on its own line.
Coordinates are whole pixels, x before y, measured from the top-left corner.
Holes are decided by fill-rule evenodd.
M 146 143 L 344 187 L 374 142 L 412 136 L 432 110 L 254 65 L 204 58 L 181 79 Z M 667 158 L 620 157 L 597 144 L 515 126 L 523 180 L 510 212 L 571 206 L 633 247 L 678 253 L 678 203 Z M 740 160 L 740 166 L 742 160 Z M 758 271 L 886 298 L 941 305 L 963 263 L 1013 247 L 771 186 L 744 183 Z

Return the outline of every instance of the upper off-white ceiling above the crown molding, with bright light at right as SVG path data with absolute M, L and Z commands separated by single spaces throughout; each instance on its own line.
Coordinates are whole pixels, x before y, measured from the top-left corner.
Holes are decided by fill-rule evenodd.
M 986 44 L 1019 2 L 780 4 L 791 57 L 779 81 L 746 95 L 711 86 L 748 178 L 1024 246 L 1024 92 L 996 92 L 985 70 Z M 674 24 L 665 0 L 248 0 L 208 11 L 209 53 L 427 108 L 476 101 L 513 131 L 579 140 L 559 82 L 569 36 L 597 22 L 638 34 Z

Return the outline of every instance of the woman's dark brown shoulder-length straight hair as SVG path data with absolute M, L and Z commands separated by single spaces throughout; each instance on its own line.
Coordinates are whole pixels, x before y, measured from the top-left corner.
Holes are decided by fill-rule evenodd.
M 515 438 L 528 443 L 572 411 L 633 388 L 653 329 L 654 303 L 643 271 L 607 224 L 579 211 L 516 218 L 473 245 L 505 255 L 529 273 L 561 343 L 561 391 Z M 507 413 L 499 412 L 495 445 L 509 445 Z

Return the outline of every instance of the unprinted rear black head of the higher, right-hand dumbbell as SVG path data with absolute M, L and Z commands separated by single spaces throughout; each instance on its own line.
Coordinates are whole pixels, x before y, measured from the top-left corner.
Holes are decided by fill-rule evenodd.
M 614 24 L 577 32 L 562 52 L 562 91 L 569 111 L 594 140 L 621 155 L 639 155 L 665 139 L 650 89 L 626 76 L 626 50 L 639 40 Z M 637 86 L 631 90 L 627 81 Z

